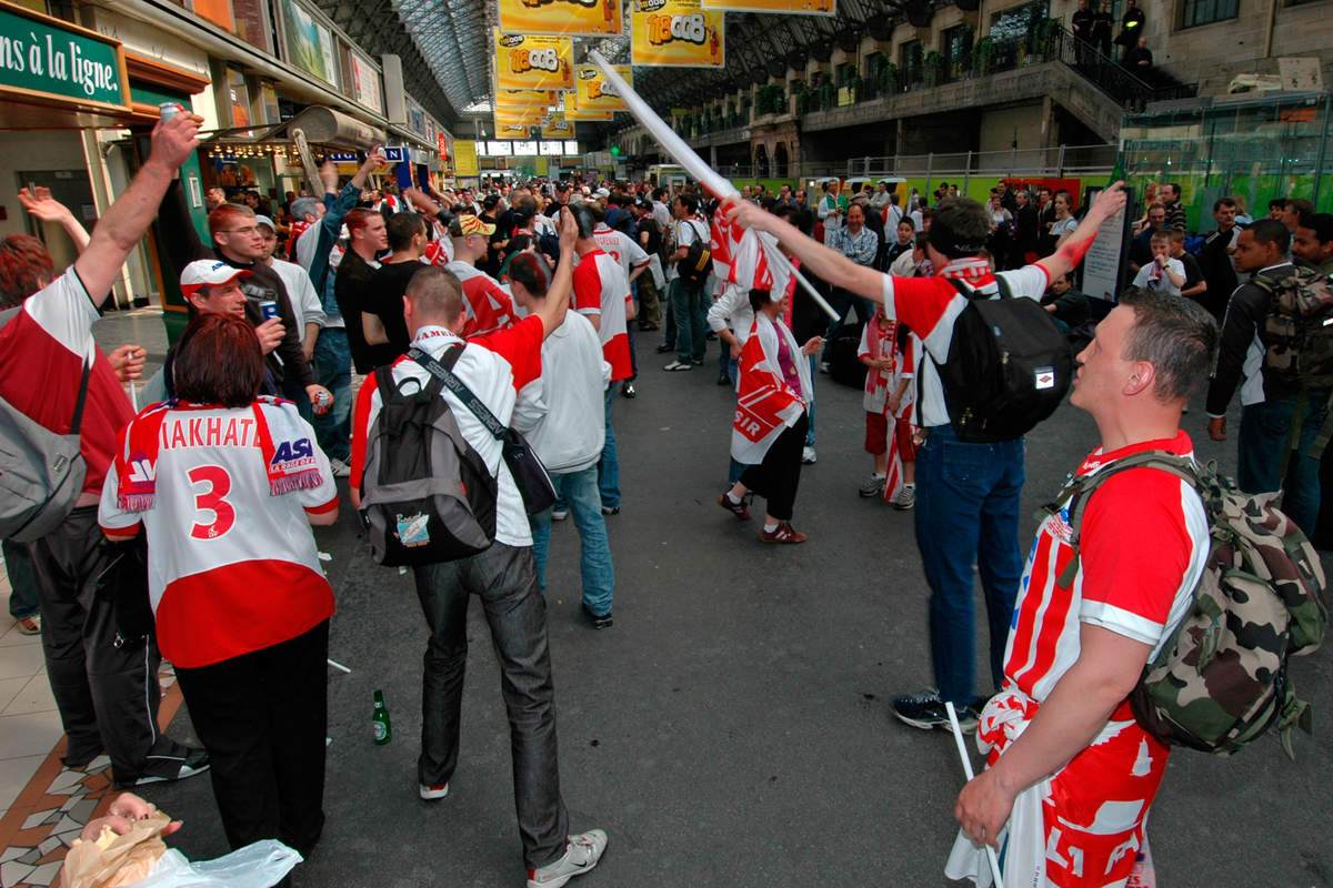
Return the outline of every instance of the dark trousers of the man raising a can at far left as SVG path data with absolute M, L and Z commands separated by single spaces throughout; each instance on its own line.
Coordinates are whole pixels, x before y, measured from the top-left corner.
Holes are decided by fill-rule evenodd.
M 173 777 L 185 747 L 157 731 L 157 667 L 152 636 L 119 639 L 111 600 L 96 595 L 107 566 L 97 507 L 75 509 L 32 545 L 41 606 L 47 679 L 60 710 L 65 762 L 87 764 L 103 750 L 119 785 L 140 776 Z

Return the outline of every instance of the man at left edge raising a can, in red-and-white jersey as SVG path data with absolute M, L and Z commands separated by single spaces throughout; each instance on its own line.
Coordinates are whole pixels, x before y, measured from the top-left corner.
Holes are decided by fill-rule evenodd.
M 0 397 L 44 427 L 68 434 L 84 367 L 91 367 L 79 429 L 87 463 L 83 493 L 65 521 L 29 549 L 47 679 L 67 738 L 64 762 L 83 767 L 105 750 L 119 787 L 187 777 L 208 767 L 201 750 L 159 734 L 161 658 L 152 636 L 117 642 L 113 596 L 95 594 L 108 562 L 99 547 L 97 499 L 116 433 L 133 410 L 93 342 L 92 325 L 172 176 L 199 148 L 197 132 L 189 114 L 155 126 L 148 160 L 60 277 L 52 280 L 51 254 L 36 238 L 12 234 L 0 241 L 0 309 L 17 309 L 0 329 Z

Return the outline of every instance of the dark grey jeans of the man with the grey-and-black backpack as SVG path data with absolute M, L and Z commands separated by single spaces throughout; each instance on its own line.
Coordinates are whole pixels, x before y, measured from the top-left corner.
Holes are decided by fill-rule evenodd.
M 500 660 L 524 864 L 535 869 L 553 863 L 565 852 L 569 815 L 560 797 L 547 602 L 537 586 L 532 547 L 493 543 L 471 558 L 415 567 L 412 572 L 431 627 L 421 680 L 421 784 L 447 783 L 459 764 L 468 599 L 475 594 L 481 599 Z

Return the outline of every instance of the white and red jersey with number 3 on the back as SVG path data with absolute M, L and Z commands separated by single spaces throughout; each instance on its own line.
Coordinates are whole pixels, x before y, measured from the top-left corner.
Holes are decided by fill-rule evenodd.
M 317 466 L 319 483 L 271 494 L 269 465 L 252 407 L 149 407 L 121 431 L 99 523 L 148 534 L 148 592 L 163 656 L 199 667 L 248 654 L 313 628 L 333 614 L 307 513 L 337 509 L 328 458 L 296 405 L 257 407 L 272 433 L 273 462 Z M 156 453 L 133 430 L 165 411 Z M 287 431 L 283 431 L 287 430 Z M 131 449 L 136 451 L 131 451 Z M 152 505 L 119 505 L 120 465 L 153 485 Z

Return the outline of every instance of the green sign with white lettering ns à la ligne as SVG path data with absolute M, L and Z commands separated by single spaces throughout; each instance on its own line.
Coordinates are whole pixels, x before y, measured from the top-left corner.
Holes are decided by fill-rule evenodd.
M 120 44 L 0 1 L 0 93 L 127 108 Z

